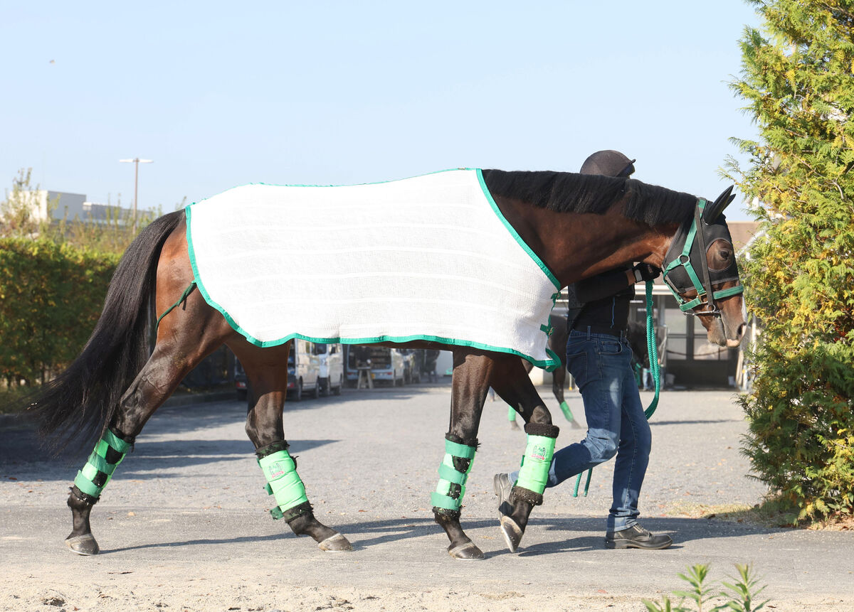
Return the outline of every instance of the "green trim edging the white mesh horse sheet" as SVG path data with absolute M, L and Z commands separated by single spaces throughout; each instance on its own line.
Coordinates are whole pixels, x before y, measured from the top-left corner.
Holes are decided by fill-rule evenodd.
M 468 169 L 468 168 L 454 168 L 453 170 L 470 170 L 470 169 Z M 439 172 L 432 172 L 431 174 L 439 174 L 440 172 L 448 172 L 448 171 L 451 171 L 451 170 L 439 170 Z M 425 175 L 421 175 L 421 176 L 425 176 Z M 542 263 L 538 257 L 536 257 L 534 252 L 530 251 L 528 246 L 525 245 L 524 241 L 521 238 L 519 238 L 518 234 L 516 234 L 516 231 L 512 228 L 512 226 L 501 215 L 500 211 L 498 210 L 498 207 L 495 205 L 495 202 L 492 199 L 492 196 L 489 194 L 488 190 L 486 190 L 486 187 L 483 183 L 483 176 L 481 175 L 480 170 L 477 170 L 477 178 L 480 181 L 481 188 L 483 188 L 483 193 L 486 195 L 488 202 L 489 202 L 489 205 L 492 206 L 495 214 L 498 215 L 501 222 L 503 222 L 505 224 L 506 228 L 516 238 L 518 244 L 520 246 L 522 246 L 525 251 L 528 251 L 530 257 L 532 257 L 534 259 L 535 263 L 538 263 L 538 265 L 543 270 L 543 272 L 545 272 L 546 275 L 548 276 L 549 280 L 551 280 L 553 282 L 554 286 L 556 286 L 556 287 L 558 287 L 558 289 L 560 289 L 558 280 L 556 280 L 554 278 L 553 274 L 548 270 L 546 265 L 544 263 Z M 391 182 L 391 181 L 386 181 L 386 182 Z M 254 183 L 254 184 L 264 184 L 264 183 Z M 377 183 L 364 183 L 364 184 L 377 184 Z M 284 187 L 299 187 L 299 186 L 285 185 Z M 307 340 L 308 342 L 313 342 L 316 344 L 377 344 L 377 343 L 381 343 L 381 342 L 393 342 L 393 343 L 401 343 L 402 344 L 402 343 L 407 343 L 407 342 L 413 342 L 416 340 L 424 340 L 426 342 L 436 342 L 438 344 L 450 344 L 453 346 L 468 346 L 468 347 L 471 347 L 472 349 L 490 350 L 490 351 L 494 351 L 495 353 L 507 353 L 510 355 L 517 355 L 518 357 L 521 357 L 525 361 L 529 361 L 530 363 L 534 364 L 536 367 L 543 368 L 547 372 L 553 372 L 558 367 L 560 367 L 559 356 L 552 349 L 549 349 L 548 347 L 546 347 L 546 354 L 548 355 L 549 359 L 547 359 L 547 360 L 535 360 L 530 355 L 524 355 L 524 353 L 521 353 L 516 349 L 510 349 L 508 347 L 492 346 L 490 344 L 483 344 L 483 343 L 474 342 L 471 340 L 462 340 L 459 338 L 442 338 L 440 336 L 428 336 L 428 335 L 424 335 L 424 334 L 418 334 L 418 335 L 414 335 L 414 336 L 374 336 L 374 337 L 368 337 L 368 338 L 314 338 L 312 336 L 305 336 L 301 333 L 290 333 L 287 336 L 284 336 L 284 338 L 278 338 L 277 340 L 259 340 L 258 338 L 254 338 L 249 332 L 244 330 L 243 327 L 239 326 L 237 324 L 237 321 L 232 319 L 231 315 L 229 315 L 227 312 L 225 312 L 225 309 L 222 306 L 220 306 L 219 303 L 216 303 L 213 300 L 210 293 L 208 293 L 207 287 L 205 287 L 204 283 L 202 282 L 201 275 L 199 274 L 198 264 L 196 263 L 196 251 L 193 248 L 193 236 L 192 236 L 192 232 L 190 230 L 190 228 L 192 226 L 192 208 L 193 208 L 193 205 L 195 205 L 195 203 L 188 205 L 184 208 L 184 215 L 186 216 L 186 219 L 187 219 L 187 251 L 188 251 L 188 254 L 190 255 L 190 266 L 192 266 L 192 268 L 193 268 L 193 277 L 194 277 L 194 280 L 196 281 L 196 286 L 197 286 L 199 292 L 202 293 L 202 297 L 205 298 L 205 302 L 207 302 L 208 305 L 210 305 L 214 309 L 217 309 L 219 311 L 219 314 L 223 315 L 225 317 L 225 320 L 228 321 L 228 324 L 231 326 L 231 328 L 235 332 L 240 333 L 243 336 L 243 338 L 246 338 L 246 340 L 250 344 L 254 344 L 255 346 L 259 346 L 261 348 L 266 348 L 266 347 L 270 347 L 270 346 L 278 346 L 279 344 L 285 344 L 285 343 L 290 342 L 291 340 L 293 340 L 295 338 L 300 338 L 301 340 Z

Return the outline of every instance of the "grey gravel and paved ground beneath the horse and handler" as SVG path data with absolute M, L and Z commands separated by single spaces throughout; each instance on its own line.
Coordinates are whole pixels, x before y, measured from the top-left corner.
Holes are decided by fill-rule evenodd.
M 447 380 L 447 379 L 446 379 Z M 569 427 L 550 391 L 541 395 Z M 570 407 L 582 417 L 580 397 Z M 733 394 L 667 392 L 652 418 L 643 524 L 670 533 L 666 551 L 602 546 L 611 464 L 594 470 L 588 497 L 574 482 L 547 491 L 517 554 L 496 521 L 492 476 L 518 465 L 524 434 L 506 406 L 487 402 L 465 496 L 466 532 L 487 558 L 447 556 L 430 491 L 444 452 L 447 384 L 345 390 L 286 407 L 291 453 L 321 521 L 353 542 L 324 553 L 266 514 L 270 499 L 238 401 L 161 408 L 92 512 L 102 547 L 78 557 L 67 488 L 86 452 L 46 459 L 32 430 L 0 420 L 0 609 L 6 610 L 643 610 L 684 586 L 694 563 L 713 581 L 752 563 L 768 609 L 854 609 L 851 532 L 765 528 L 718 516 L 757 504 L 764 489 L 739 452 L 746 430 Z M 643 397 L 645 403 L 651 394 Z

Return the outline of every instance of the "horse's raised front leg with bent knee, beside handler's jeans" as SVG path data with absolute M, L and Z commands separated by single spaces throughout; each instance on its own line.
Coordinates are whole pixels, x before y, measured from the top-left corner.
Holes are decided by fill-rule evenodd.
M 528 434 L 517 481 L 503 482 L 500 479 L 502 476 L 506 479 L 506 475 L 495 476 L 495 494 L 500 497 L 501 533 L 507 547 L 515 552 L 531 511 L 535 505 L 542 504 L 559 429 L 552 424 L 552 415 L 518 359 L 498 362 L 491 384 L 525 419 L 525 433 Z

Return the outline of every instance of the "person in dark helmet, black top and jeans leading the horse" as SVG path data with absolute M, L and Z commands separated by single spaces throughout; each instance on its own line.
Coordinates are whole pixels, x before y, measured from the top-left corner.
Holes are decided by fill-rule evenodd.
M 634 162 L 617 151 L 599 151 L 584 161 L 581 173 L 630 176 L 635 172 Z M 556 487 L 617 455 L 605 548 L 662 549 L 673 543 L 670 536 L 651 534 L 637 521 L 640 486 L 649 463 L 652 436 L 640 403 L 631 366 L 632 350 L 626 338 L 635 283 L 652 280 L 658 274 L 660 269 L 639 263 L 569 287 L 566 367 L 581 391 L 588 432 L 581 442 L 554 453 L 546 487 Z M 512 511 L 512 488 L 518 477 L 519 471 L 514 471 L 496 474 L 493 479 L 500 499 L 501 530 L 511 551 L 515 551 L 515 543 L 521 537 L 518 525 L 507 516 Z

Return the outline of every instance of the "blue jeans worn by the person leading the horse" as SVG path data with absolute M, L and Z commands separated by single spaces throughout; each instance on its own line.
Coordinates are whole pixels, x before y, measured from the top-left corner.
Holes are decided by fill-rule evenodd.
M 622 531 L 637 523 L 640 485 L 652 447 L 631 359 L 632 349 L 625 338 L 570 331 L 566 367 L 581 391 L 588 432 L 581 442 L 554 453 L 546 483 L 547 488 L 556 487 L 617 455 L 608 531 Z M 510 478 L 515 482 L 518 472 Z

